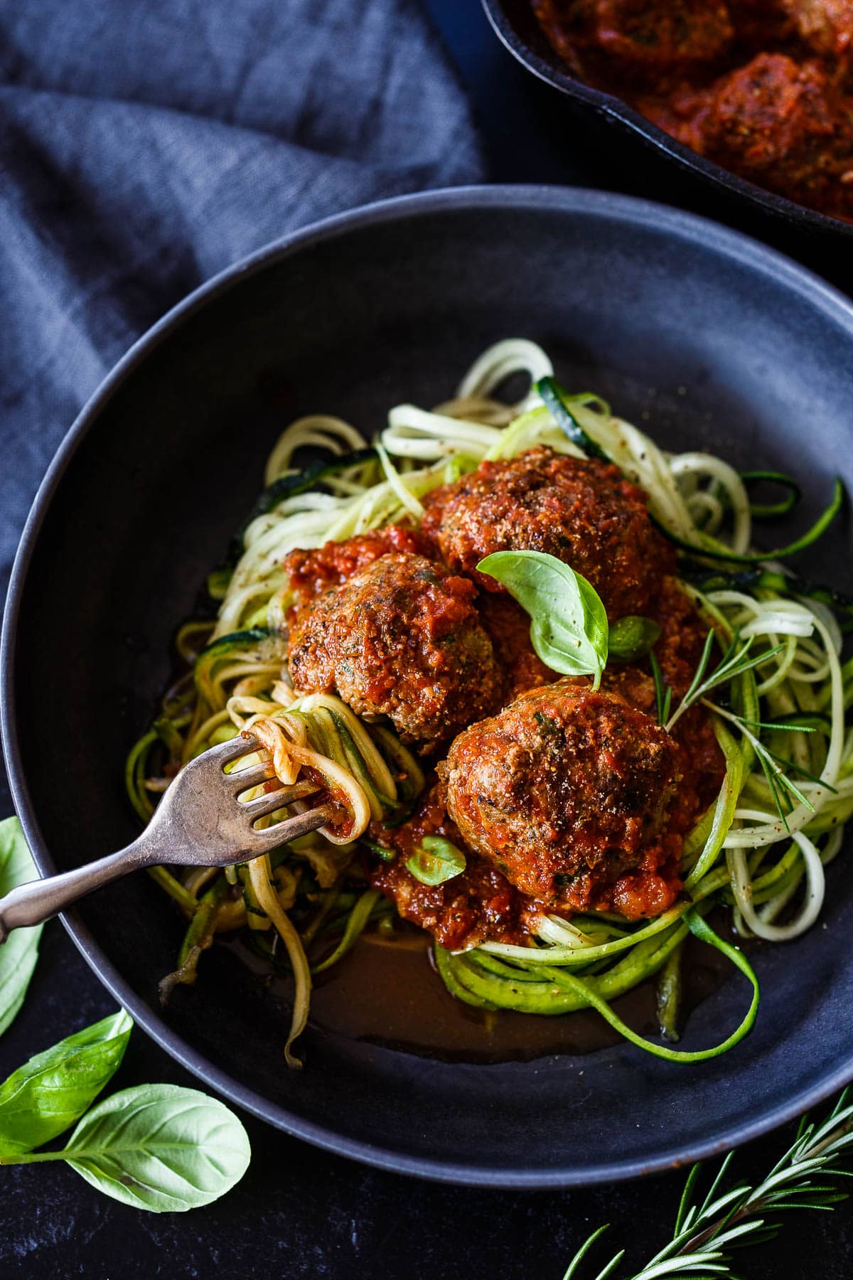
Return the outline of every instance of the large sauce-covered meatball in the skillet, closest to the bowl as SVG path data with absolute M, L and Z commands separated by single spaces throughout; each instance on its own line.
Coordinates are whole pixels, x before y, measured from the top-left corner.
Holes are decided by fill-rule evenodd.
M 679 110 L 680 125 L 657 123 L 694 151 L 761 187 L 853 218 L 849 106 L 820 63 L 758 54 L 687 95 Z

